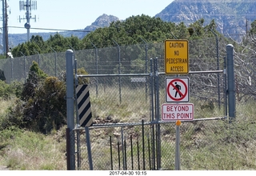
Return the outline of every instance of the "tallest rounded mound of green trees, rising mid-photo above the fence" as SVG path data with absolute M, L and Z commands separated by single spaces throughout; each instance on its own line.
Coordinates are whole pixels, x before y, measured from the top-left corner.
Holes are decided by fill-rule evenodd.
M 93 42 L 98 48 L 115 46 L 116 41 L 120 46 L 134 45 L 142 42 L 163 42 L 166 38 L 173 38 L 171 31 L 187 36 L 185 26 L 176 26 L 173 22 L 163 22 L 161 18 L 151 18 L 148 15 L 138 15 L 126 18 L 125 21 L 111 22 L 109 27 L 98 28 L 82 38 L 86 48 L 92 48 Z M 184 33 L 184 34 L 183 34 Z

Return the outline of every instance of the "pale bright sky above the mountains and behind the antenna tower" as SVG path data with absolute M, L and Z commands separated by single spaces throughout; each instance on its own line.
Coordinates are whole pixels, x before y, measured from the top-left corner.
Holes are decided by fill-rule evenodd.
M 6 0 L 9 5 L 8 33 L 25 34 L 26 10 L 19 10 L 20 0 Z M 36 10 L 30 10 L 30 33 L 83 30 L 102 14 L 114 15 L 120 20 L 132 15 L 146 14 L 154 17 L 174 0 L 31 0 L 37 2 Z M 26 2 L 22 0 L 21 2 Z M 2 1 L 0 1 L 2 7 Z M 2 8 L 1 8 L 2 12 Z M 0 13 L 1 13 L 0 12 Z M 1 13 L 2 14 L 2 13 Z M 19 17 L 21 22 L 19 22 Z M 36 18 L 36 22 L 34 21 Z M 2 19 L 2 18 L 1 18 Z M 38 29 L 54 30 L 38 30 Z

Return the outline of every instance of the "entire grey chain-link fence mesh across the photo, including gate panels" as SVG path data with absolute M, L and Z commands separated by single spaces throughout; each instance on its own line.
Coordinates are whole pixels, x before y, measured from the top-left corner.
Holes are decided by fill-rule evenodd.
M 227 44 L 224 38 L 189 42 L 190 74 L 183 76 L 190 79 L 194 121 L 181 126 L 182 170 L 254 169 L 254 163 L 246 163 L 245 153 L 234 153 L 238 148 L 234 141 L 241 139 L 239 145 L 253 156 L 249 142 L 255 143 L 254 135 L 239 134 L 237 129 L 255 134 L 255 123 L 246 118 L 230 125 L 225 118 Z M 236 47 L 236 98 L 254 100 L 255 52 Z M 164 73 L 163 43 L 78 50 L 74 58 L 77 67 L 88 72 L 94 118 L 89 128 L 92 158 L 88 158 L 85 129 L 74 129 L 70 138 L 76 145 L 76 170 L 92 169 L 90 159 L 93 170 L 174 170 L 175 124 L 157 119 L 165 103 L 165 78 L 176 76 Z M 1 59 L 6 82 L 26 82 L 33 61 L 50 76 L 61 78 L 66 70 L 65 53 Z M 234 159 L 242 159 L 244 165 L 237 166 Z

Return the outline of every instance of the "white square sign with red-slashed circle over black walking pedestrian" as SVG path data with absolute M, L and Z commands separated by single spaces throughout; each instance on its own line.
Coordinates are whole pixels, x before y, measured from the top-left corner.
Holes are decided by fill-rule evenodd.
M 189 102 L 189 78 L 166 78 L 166 102 Z

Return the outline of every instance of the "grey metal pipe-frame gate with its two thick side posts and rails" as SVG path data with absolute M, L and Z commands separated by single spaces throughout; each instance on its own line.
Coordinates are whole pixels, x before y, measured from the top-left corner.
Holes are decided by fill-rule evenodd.
M 231 50 L 232 49 L 232 50 Z M 224 114 L 222 117 L 218 118 L 207 118 L 207 119 L 196 119 L 194 122 L 198 121 L 208 121 L 208 120 L 220 120 L 220 119 L 226 119 L 227 117 L 234 118 L 234 105 L 231 105 L 227 103 L 227 98 L 229 98 L 229 103 L 232 102 L 232 98 L 234 99 L 234 70 L 232 70 L 233 67 L 233 47 L 227 46 L 227 67 L 228 67 L 228 88 L 226 88 L 226 66 L 224 66 L 224 70 L 208 70 L 208 71 L 190 71 L 190 77 L 193 78 L 194 74 L 222 74 L 222 88 L 223 92 L 221 94 L 221 90 L 218 87 L 218 107 L 223 105 L 224 106 Z M 226 59 L 224 59 L 226 61 Z M 162 170 L 166 168 L 166 164 L 163 165 L 162 160 L 162 127 L 163 124 L 174 124 L 174 122 L 162 122 L 161 120 L 161 111 L 160 106 L 161 103 L 164 102 L 162 98 L 162 89 L 160 89 L 163 86 L 163 80 L 166 78 L 166 74 L 158 71 L 158 64 L 159 60 L 158 58 L 150 59 L 150 73 L 149 74 L 77 74 L 77 68 L 76 68 L 76 59 L 74 59 L 74 53 L 72 50 L 66 51 L 66 84 L 67 84 L 67 119 L 68 119 L 68 128 L 67 128 L 67 169 L 68 170 Z M 226 62 L 224 62 L 224 65 L 226 65 Z M 75 70 L 75 80 L 73 77 L 73 72 Z M 233 72 L 233 75 L 232 75 Z M 233 76 L 233 78 L 232 78 Z M 146 110 L 146 117 L 143 118 L 142 122 L 113 122 L 113 117 L 107 117 L 108 122 L 110 124 L 107 124 L 108 122 L 101 124 L 100 121 L 102 119 L 98 119 L 96 117 L 96 120 L 94 121 L 94 124 L 90 124 L 90 126 L 80 126 L 79 124 L 79 114 L 78 110 L 74 110 L 74 82 L 76 85 L 78 85 L 78 78 L 90 78 L 90 92 L 94 94 L 94 97 L 102 98 L 102 94 L 100 92 L 104 92 L 106 94 L 106 89 L 113 89 L 113 87 L 116 88 L 117 91 L 115 91 L 114 99 L 110 98 L 110 102 L 115 102 L 117 109 L 124 108 L 122 105 L 127 105 L 125 100 L 126 96 L 136 96 L 136 94 L 133 94 L 135 90 L 129 90 L 125 91 L 123 89 L 126 89 L 127 87 L 130 87 L 132 84 L 136 84 L 136 87 L 138 87 L 141 92 L 143 92 L 143 101 L 145 101 L 146 106 L 148 107 L 148 110 Z M 218 77 L 219 78 L 219 77 Z M 129 82 L 129 83 L 128 83 Z M 218 85 L 220 80 L 218 79 Z M 233 85 L 232 85 L 233 84 Z M 71 86 L 69 86 L 71 85 Z M 103 86 L 102 86 L 103 85 Z M 129 94 L 127 94 L 129 92 Z M 227 95 L 229 95 L 227 97 Z M 76 95 L 75 95 L 76 96 Z M 221 96 L 223 98 L 223 102 L 220 102 Z M 140 97 L 140 99 L 142 99 Z M 96 99 L 94 99 L 96 101 Z M 135 102 L 134 102 L 135 103 Z M 138 102 L 140 103 L 140 102 Z M 103 104 L 103 109 L 106 106 L 106 104 Z M 229 115 L 227 114 L 227 107 L 229 106 Z M 74 112 L 76 112 L 76 118 L 74 117 Z M 142 116 L 145 116 L 145 114 L 142 114 Z M 95 118 L 95 117 L 92 117 Z M 74 120 L 76 119 L 76 120 Z M 99 122 L 97 124 L 97 121 Z M 76 122 L 76 124 L 75 124 Z M 135 126 L 135 127 L 134 127 Z M 140 126 L 141 129 L 136 129 L 136 126 Z M 145 126 L 147 126 L 145 128 Z M 194 126 L 196 128 L 197 125 Z M 94 167 L 94 160 L 97 160 L 98 158 L 95 158 L 92 156 L 92 152 L 94 150 L 95 146 L 92 146 L 92 140 L 91 135 L 93 130 L 97 131 L 97 129 L 106 128 L 106 136 L 109 136 L 108 134 L 111 134 L 109 136 L 109 140 L 107 140 L 110 143 L 110 151 L 109 153 L 109 161 L 106 159 L 104 162 L 107 161 L 107 166 L 103 166 L 101 162 L 99 162 L 98 167 Z M 114 130 L 111 130 L 113 128 L 121 128 L 119 130 L 119 133 L 116 134 Z M 134 131 L 138 130 L 138 133 L 133 134 Z M 145 132 L 146 130 L 146 132 Z M 124 135 L 124 131 L 127 132 L 126 136 Z M 170 130 L 172 131 L 172 130 Z M 95 132 L 96 133 L 96 132 Z M 93 135 L 97 135 L 93 134 Z M 139 140 L 142 141 L 142 146 L 139 146 L 137 143 L 137 158 L 138 161 L 134 162 L 134 154 L 133 149 L 130 150 L 129 154 L 129 162 L 130 164 L 127 164 L 127 135 L 130 135 L 130 147 L 133 147 L 133 138 L 136 135 L 140 135 L 141 139 L 137 138 L 136 142 L 139 142 Z M 146 137 L 146 139 L 145 139 Z M 82 148 L 82 139 L 86 138 L 86 149 Z M 113 162 L 113 148 L 112 145 L 113 138 L 115 138 L 117 142 L 117 150 L 118 150 L 118 164 Z M 95 141 L 94 141 L 95 142 Z M 103 142 L 104 143 L 104 142 Z M 174 144 L 173 144 L 174 145 Z M 122 147 L 120 150 L 119 147 Z M 141 150 L 139 150 L 141 149 Z M 83 154 L 82 150 L 86 150 L 87 154 Z M 105 152 L 106 153 L 106 152 Z M 104 152 L 102 153 L 102 155 Z M 122 157 L 121 157 L 121 156 Z M 142 158 L 140 158 L 142 156 Z M 147 158 L 147 159 L 146 159 Z M 174 158 L 174 155 L 170 155 L 170 158 Z M 83 166 L 86 162 L 88 166 Z M 136 163 L 136 168 L 134 166 L 134 163 Z M 130 166 L 130 168 L 128 167 Z M 167 169 L 171 169 L 172 166 L 167 166 Z M 173 168 L 174 169 L 174 168 Z

